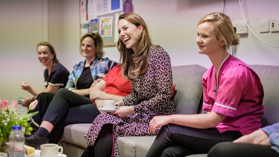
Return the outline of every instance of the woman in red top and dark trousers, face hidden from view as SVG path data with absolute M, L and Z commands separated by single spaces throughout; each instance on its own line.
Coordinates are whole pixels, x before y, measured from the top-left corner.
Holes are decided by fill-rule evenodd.
M 92 122 L 95 119 L 95 116 L 86 115 L 88 114 L 86 110 L 92 110 L 91 108 L 88 108 L 88 106 L 93 106 L 94 109 L 96 109 L 96 107 L 102 108 L 103 100 L 119 101 L 122 100 L 124 96 L 127 96 L 130 93 L 131 93 L 131 81 L 125 81 L 125 78 L 121 76 L 120 66 L 119 64 L 117 64 L 111 70 L 109 70 L 109 72 L 105 75 L 105 77 L 103 77 L 102 79 L 98 79 L 91 85 L 90 99 L 96 106 L 94 104 L 87 104 L 87 105 L 82 105 L 79 108 L 76 107 L 69 108 L 68 114 L 62 120 L 62 122 L 59 123 L 59 125 L 55 126 L 53 130 L 49 133 L 48 136 L 49 143 L 58 143 L 63 133 L 64 127 L 69 124 Z M 71 98 L 71 96 L 69 97 L 70 98 L 67 99 L 78 99 L 78 98 Z M 81 111 L 83 111 L 85 114 L 83 117 L 78 116 L 81 113 Z M 106 113 L 102 111 L 99 112 L 101 114 Z M 90 117 L 90 119 L 85 120 L 85 118 L 88 117 Z

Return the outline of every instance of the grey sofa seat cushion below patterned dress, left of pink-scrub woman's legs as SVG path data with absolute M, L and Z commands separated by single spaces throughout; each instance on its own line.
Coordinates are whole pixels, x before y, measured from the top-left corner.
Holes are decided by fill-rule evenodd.
M 117 138 L 119 156 L 145 156 L 156 136 L 127 136 Z

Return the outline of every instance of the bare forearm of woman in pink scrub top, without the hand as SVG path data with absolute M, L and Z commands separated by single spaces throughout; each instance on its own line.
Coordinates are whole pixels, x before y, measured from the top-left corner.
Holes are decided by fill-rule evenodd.
M 169 123 L 188 126 L 191 128 L 207 129 L 215 128 L 220 122 L 218 122 L 218 120 L 214 120 L 214 118 L 211 118 L 210 114 L 174 114 L 169 116 Z

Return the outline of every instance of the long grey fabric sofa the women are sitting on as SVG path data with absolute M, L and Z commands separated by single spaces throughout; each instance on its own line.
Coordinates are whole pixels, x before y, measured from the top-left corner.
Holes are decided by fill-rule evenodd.
M 262 126 L 279 122 L 279 66 L 251 65 L 258 73 L 264 86 L 265 115 Z M 207 69 L 200 65 L 183 65 L 172 67 L 175 87 L 175 114 L 202 114 L 202 75 Z M 83 138 L 91 124 L 71 124 L 64 128 L 59 145 L 63 146 L 68 157 L 81 156 L 86 141 Z M 155 136 L 119 137 L 117 144 L 119 155 L 145 156 Z M 197 154 L 194 156 L 206 156 Z

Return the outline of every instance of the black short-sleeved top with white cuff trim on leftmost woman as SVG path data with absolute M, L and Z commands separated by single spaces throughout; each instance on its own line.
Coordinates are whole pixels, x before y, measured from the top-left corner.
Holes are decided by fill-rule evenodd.
M 44 76 L 45 82 L 47 82 L 47 84 L 44 84 L 45 88 L 47 88 L 49 84 L 52 86 L 60 85 L 59 88 L 65 88 L 69 75 L 69 71 L 63 65 L 57 62 L 53 66 L 50 75 L 48 75 L 48 69 L 45 69 Z

